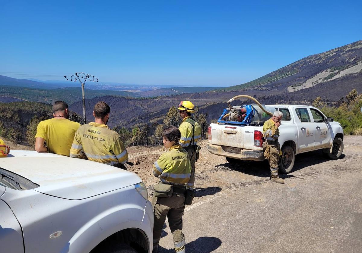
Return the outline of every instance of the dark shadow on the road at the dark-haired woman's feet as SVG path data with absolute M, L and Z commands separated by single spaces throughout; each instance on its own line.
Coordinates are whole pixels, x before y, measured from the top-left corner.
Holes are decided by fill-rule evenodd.
M 188 253 L 210 253 L 216 250 L 221 245 L 221 240 L 216 237 L 199 237 L 198 239 L 191 241 L 190 243 L 186 243 L 185 252 Z M 159 246 L 158 253 L 174 253 L 175 250 L 165 249 Z

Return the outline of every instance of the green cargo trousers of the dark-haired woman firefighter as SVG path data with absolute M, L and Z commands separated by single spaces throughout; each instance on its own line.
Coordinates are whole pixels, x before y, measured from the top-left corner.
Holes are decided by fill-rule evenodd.
M 166 216 L 173 236 L 175 251 L 185 253 L 185 236 L 182 233 L 182 216 L 185 210 L 184 197 L 152 198 L 153 205 L 153 253 L 157 252 Z

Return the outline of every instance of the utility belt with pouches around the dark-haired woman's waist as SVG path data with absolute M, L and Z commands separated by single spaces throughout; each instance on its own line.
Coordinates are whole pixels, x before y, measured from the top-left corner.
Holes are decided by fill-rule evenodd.
M 183 185 L 163 184 L 161 181 L 155 185 L 155 192 L 153 192 L 153 197 L 170 198 L 177 196 L 177 194 L 183 195 L 185 197 L 185 205 L 192 204 L 194 190 L 186 189 Z

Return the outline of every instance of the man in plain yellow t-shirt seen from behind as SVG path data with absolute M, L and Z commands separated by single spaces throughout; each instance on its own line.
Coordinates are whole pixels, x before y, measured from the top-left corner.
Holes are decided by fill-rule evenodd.
M 68 105 L 55 101 L 52 107 L 54 118 L 40 121 L 35 135 L 35 150 L 69 156 L 73 138 L 80 124 L 68 120 Z M 46 145 L 44 146 L 44 142 Z

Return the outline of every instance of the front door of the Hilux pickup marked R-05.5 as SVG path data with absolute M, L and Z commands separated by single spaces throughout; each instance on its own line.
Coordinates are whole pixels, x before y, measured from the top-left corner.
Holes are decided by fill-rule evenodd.
M 324 148 L 328 147 L 331 141 L 331 129 L 329 129 L 327 119 L 324 117 L 323 113 L 315 108 L 309 108 L 312 114 L 313 126 L 316 129 L 316 134 L 314 138 L 315 148 Z

